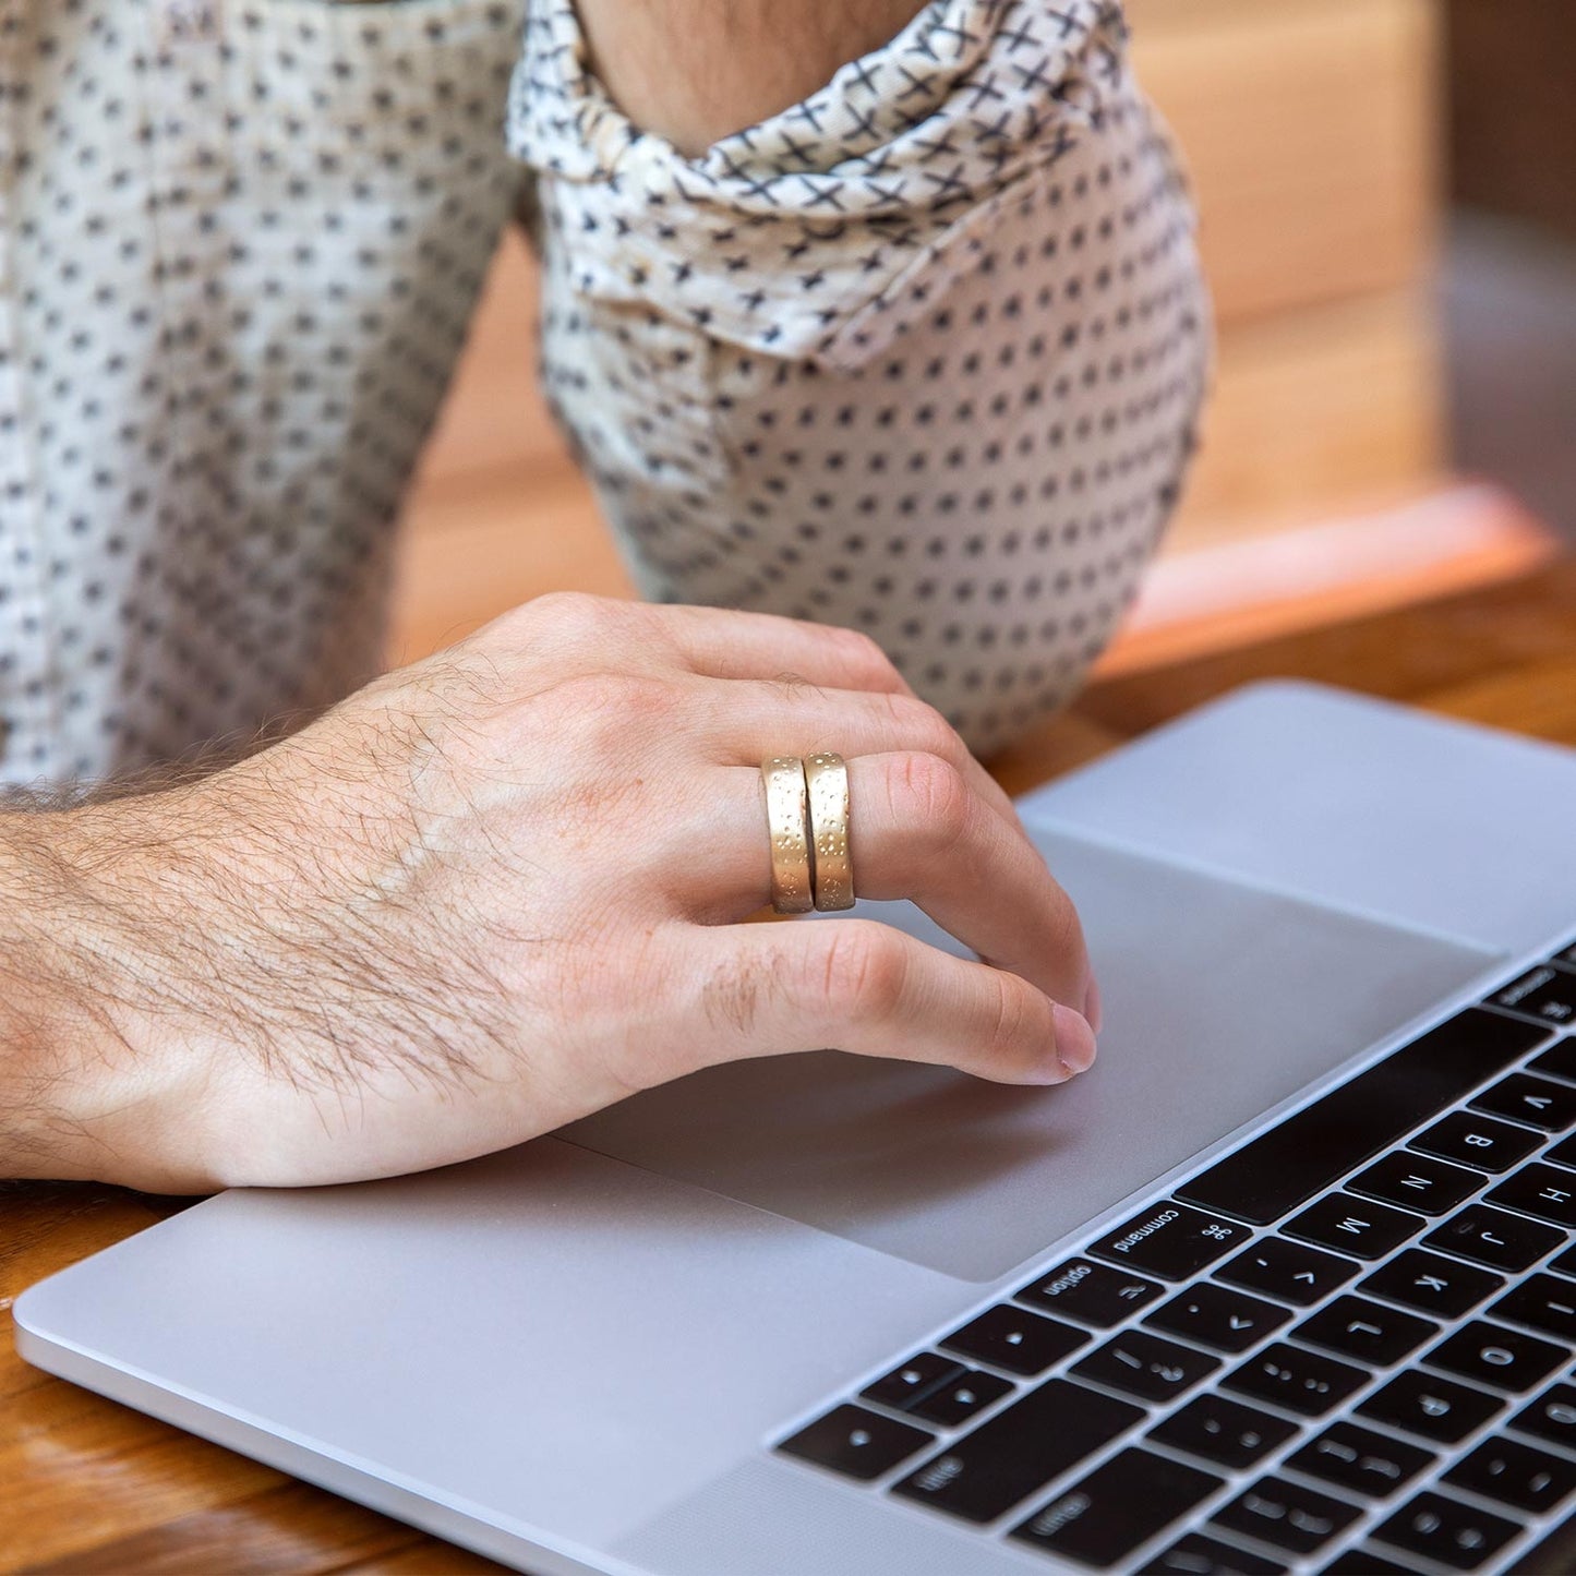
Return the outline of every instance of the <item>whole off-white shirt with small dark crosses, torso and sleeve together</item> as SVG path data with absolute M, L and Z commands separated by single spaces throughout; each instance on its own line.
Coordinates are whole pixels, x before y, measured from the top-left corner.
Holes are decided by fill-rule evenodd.
M 586 72 L 569 0 L 27 0 L 0 780 L 377 670 L 400 500 L 533 186 L 544 377 L 646 594 L 867 627 L 982 747 L 1070 692 L 1207 361 L 1114 6 L 938 0 L 687 161 Z

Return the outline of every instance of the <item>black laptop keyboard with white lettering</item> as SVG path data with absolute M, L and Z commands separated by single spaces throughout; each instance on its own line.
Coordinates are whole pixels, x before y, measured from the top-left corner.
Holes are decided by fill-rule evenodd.
M 1576 1491 L 1571 1023 L 1576 946 L 777 1450 L 1144 1576 L 1524 1557 Z

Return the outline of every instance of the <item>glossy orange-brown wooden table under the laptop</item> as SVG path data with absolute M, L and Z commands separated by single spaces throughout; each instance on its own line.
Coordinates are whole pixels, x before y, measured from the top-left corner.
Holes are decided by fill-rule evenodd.
M 1576 563 L 1092 689 L 998 763 L 1021 791 L 1251 679 L 1295 675 L 1576 745 Z M 0 1308 L 178 1201 L 0 1190 Z M 6 1319 L 9 1324 L 9 1318 Z M 498 1567 L 25 1366 L 0 1340 L 0 1571 Z

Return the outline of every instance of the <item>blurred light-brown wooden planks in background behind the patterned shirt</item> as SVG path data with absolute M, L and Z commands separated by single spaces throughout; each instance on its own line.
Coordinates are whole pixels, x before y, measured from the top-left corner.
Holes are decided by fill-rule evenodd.
M 1193 172 L 1220 339 L 1166 550 L 1190 566 L 1162 566 L 1114 660 L 1174 656 L 1177 630 L 1207 646 L 1225 615 L 1266 597 L 1307 623 L 1538 558 L 1541 534 L 1481 490 L 1447 500 L 1450 531 L 1417 515 L 1448 487 L 1431 293 L 1436 0 L 1128 0 L 1128 13 L 1139 76 Z M 534 388 L 533 317 L 533 263 L 511 236 L 413 500 L 396 656 L 545 589 L 627 589 Z

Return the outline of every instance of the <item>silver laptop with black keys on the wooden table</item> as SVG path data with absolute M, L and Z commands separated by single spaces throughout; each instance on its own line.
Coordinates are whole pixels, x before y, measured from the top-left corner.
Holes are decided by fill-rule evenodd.
M 22 1354 L 541 1576 L 1576 1568 L 1576 755 L 1277 682 L 1021 810 L 1089 1075 L 777 1057 L 232 1191 Z

